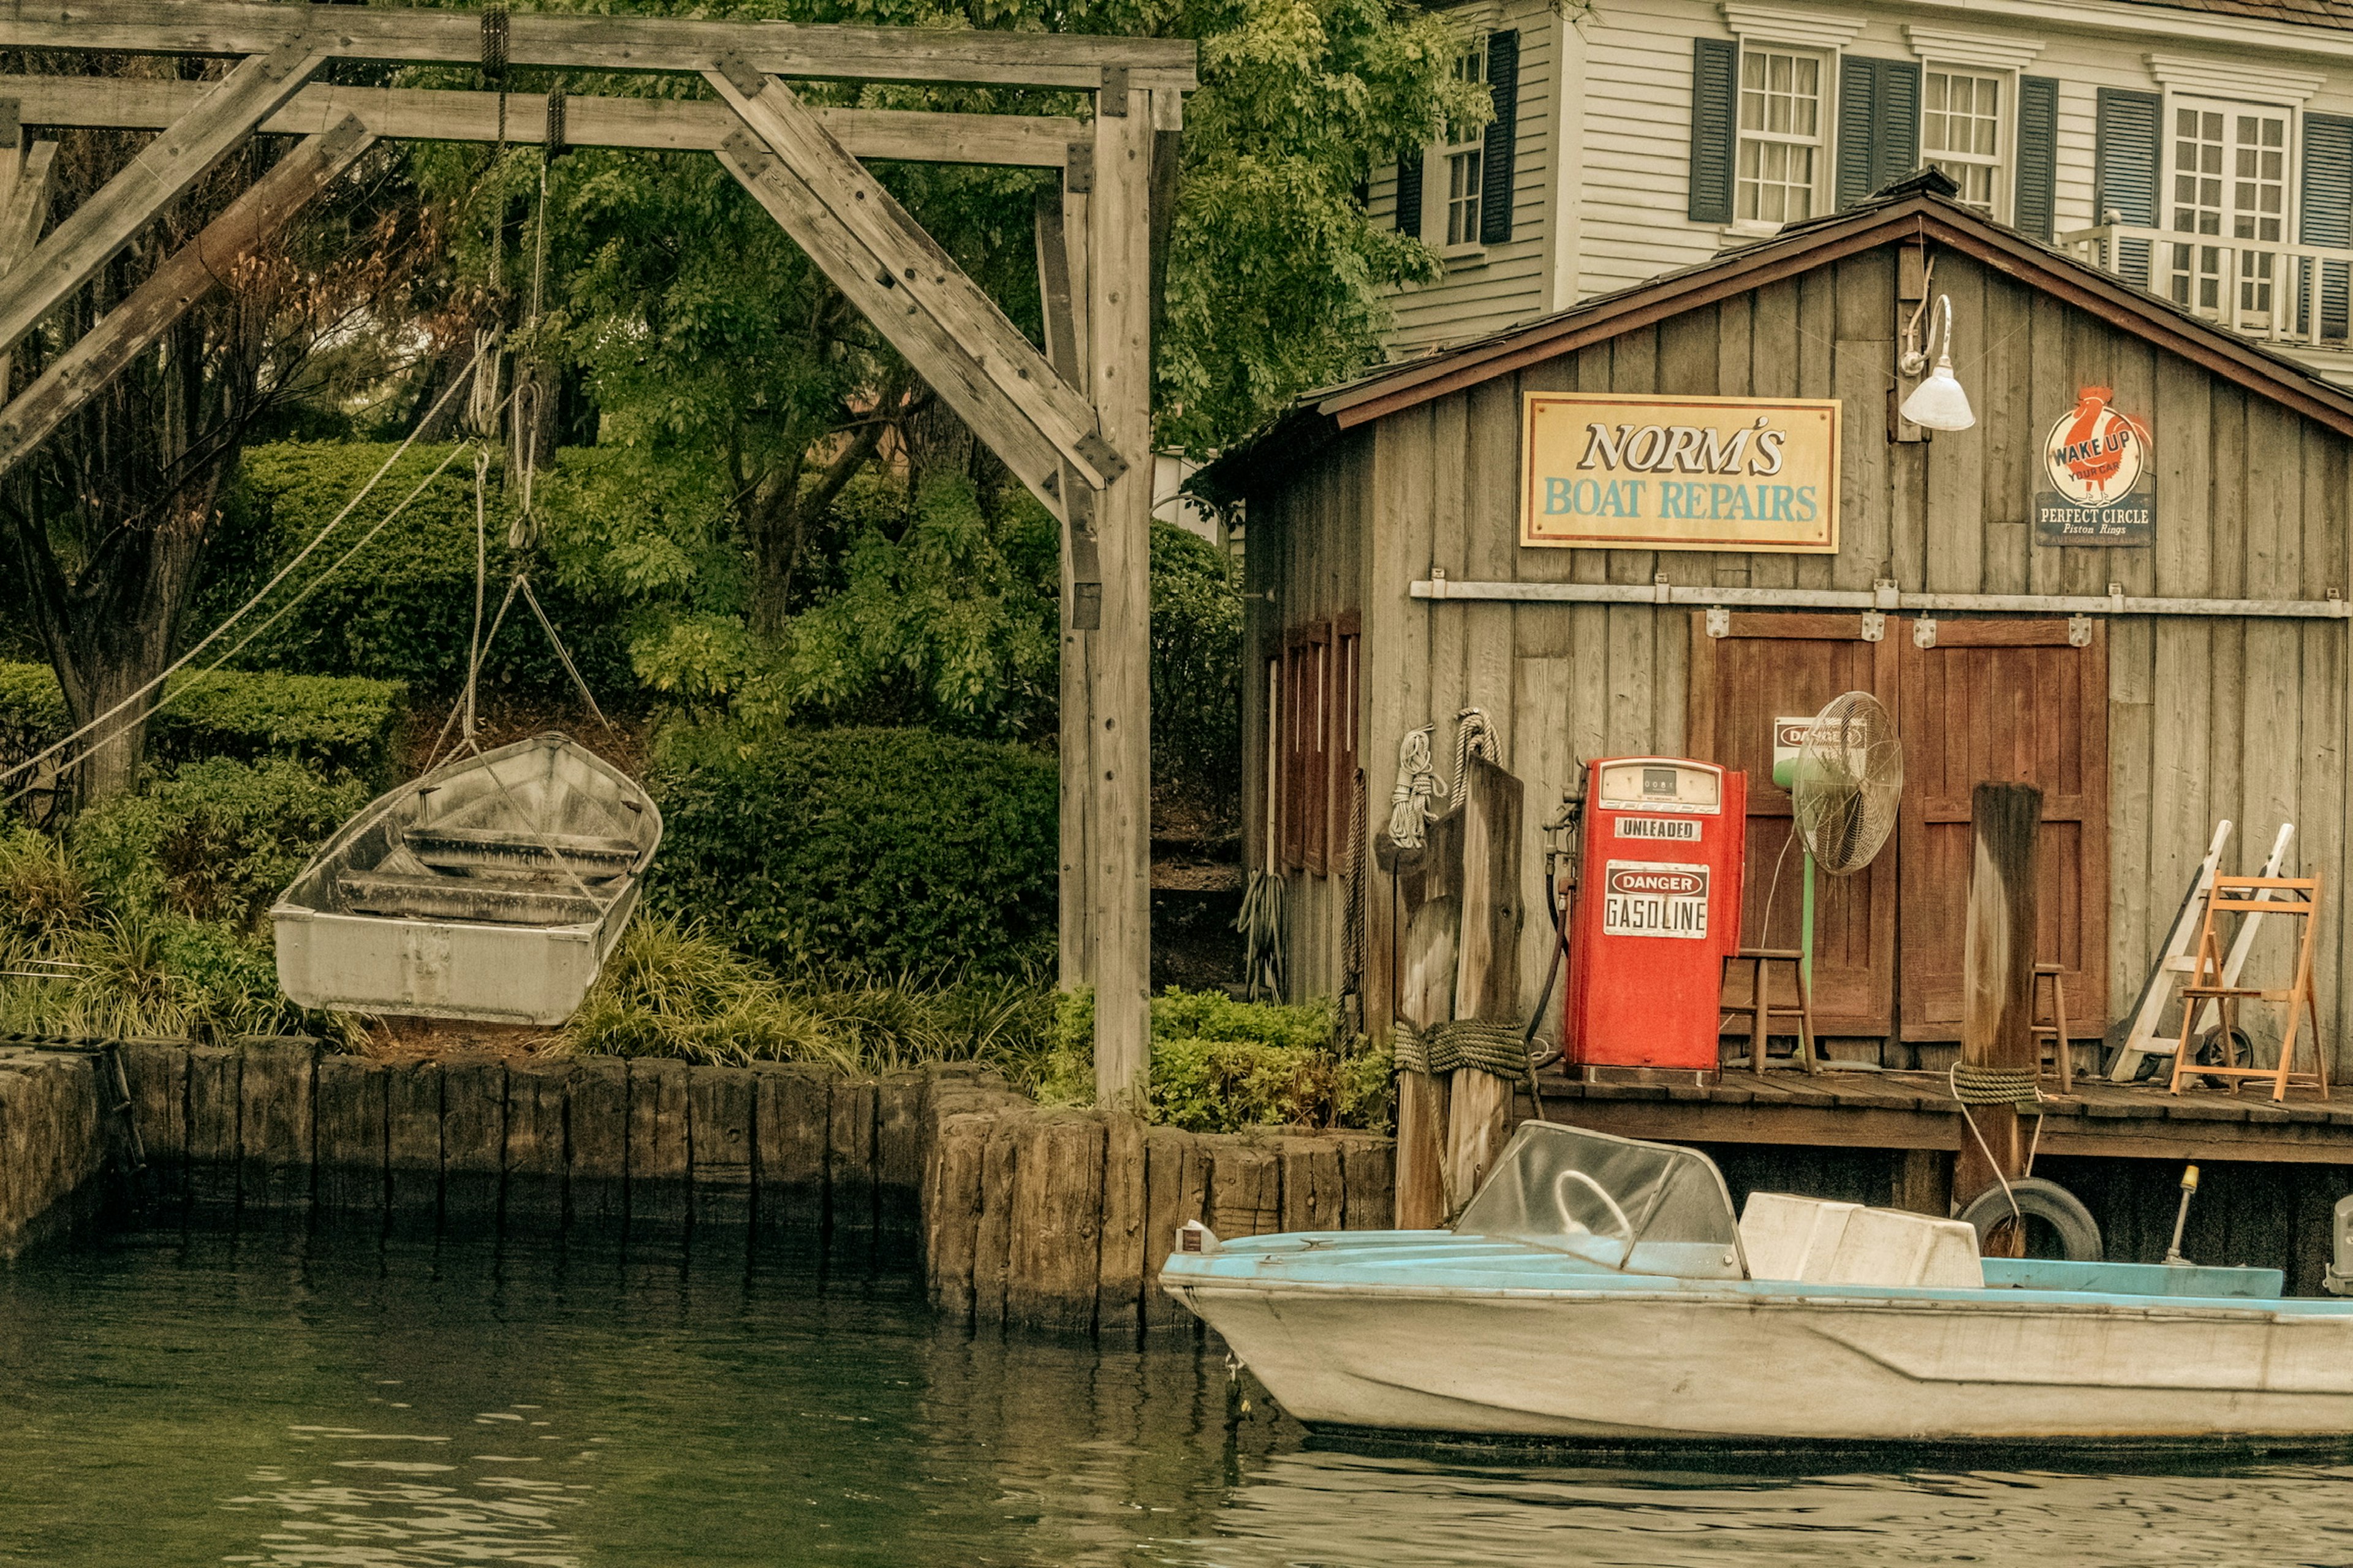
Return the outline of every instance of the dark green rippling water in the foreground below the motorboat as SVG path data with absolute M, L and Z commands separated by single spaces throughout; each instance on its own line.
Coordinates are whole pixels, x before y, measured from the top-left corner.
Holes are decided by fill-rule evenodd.
M 791 1255 L 148 1232 L 0 1272 L 0 1563 L 2353 1561 L 2344 1467 L 1537 1462 L 1245 1396 Z

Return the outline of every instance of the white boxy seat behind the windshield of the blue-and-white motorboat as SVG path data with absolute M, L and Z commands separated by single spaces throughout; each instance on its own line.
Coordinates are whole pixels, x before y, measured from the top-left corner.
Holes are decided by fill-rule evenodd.
M 1901 1208 L 1751 1192 L 1741 1211 L 1751 1279 L 1979 1291 L 1977 1227 Z

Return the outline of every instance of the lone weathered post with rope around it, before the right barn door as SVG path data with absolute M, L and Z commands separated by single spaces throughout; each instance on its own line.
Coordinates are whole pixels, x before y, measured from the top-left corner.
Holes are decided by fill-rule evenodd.
M 2035 1072 L 2040 1065 L 2033 1037 L 2035 879 L 2042 790 L 2026 783 L 1981 783 L 1969 797 L 1969 818 L 1977 858 L 1969 865 L 1960 961 L 1960 1060 L 1972 1067 Z M 2026 1131 L 2014 1105 L 1967 1105 L 1960 1114 L 1979 1133 L 1960 1140 L 1960 1166 L 1953 1173 L 1953 1199 L 1967 1204 L 2000 1178 L 2026 1173 Z M 2024 1241 L 2017 1227 L 2009 1234 L 2012 1246 Z

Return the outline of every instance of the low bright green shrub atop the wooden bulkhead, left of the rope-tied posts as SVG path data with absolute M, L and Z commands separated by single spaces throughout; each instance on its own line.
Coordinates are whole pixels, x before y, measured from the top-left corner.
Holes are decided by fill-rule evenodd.
M 1391 1058 L 1339 1032 L 1332 1001 L 1233 1001 L 1224 992 L 1153 997 L 1151 1119 L 1195 1133 L 1245 1126 L 1388 1131 Z M 1094 1098 L 1094 992 L 1066 992 L 1040 1098 Z

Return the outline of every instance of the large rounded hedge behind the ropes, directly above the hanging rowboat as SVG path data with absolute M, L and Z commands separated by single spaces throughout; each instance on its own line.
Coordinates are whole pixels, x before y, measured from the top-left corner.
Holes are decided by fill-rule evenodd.
M 447 447 L 412 447 L 376 484 L 294 581 L 313 581 L 313 567 L 336 559 L 384 520 L 447 456 Z M 261 588 L 318 529 L 367 484 L 393 454 L 374 442 L 278 442 L 252 447 L 238 463 L 238 480 L 221 503 L 221 531 L 207 550 L 207 578 L 191 625 L 214 625 Z M 565 451 L 565 465 L 595 463 L 593 451 Z M 489 491 L 489 592 L 485 616 L 496 614 L 513 571 L 506 550 L 511 496 Z M 466 684 L 466 649 L 473 637 L 473 461 L 461 458 L 426 484 L 348 567 L 329 576 L 285 621 L 264 632 L 240 663 L 247 668 L 311 670 L 315 675 L 367 675 L 405 682 L 419 696 L 447 698 Z M 628 637 L 612 604 L 567 585 L 553 567 L 532 571 L 532 588 L 591 691 L 626 698 L 635 689 Z M 292 592 L 282 588 L 280 595 Z M 264 614 L 282 604 L 273 595 Z M 489 691 L 525 698 L 567 698 L 572 682 L 555 661 L 546 635 L 520 599 L 508 611 L 499 639 L 482 663 Z

